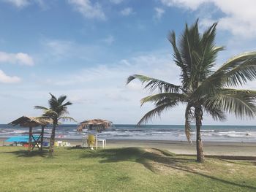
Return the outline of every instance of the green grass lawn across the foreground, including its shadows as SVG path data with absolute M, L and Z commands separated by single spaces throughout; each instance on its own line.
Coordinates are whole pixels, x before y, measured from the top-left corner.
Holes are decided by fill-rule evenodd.
M 0 191 L 256 191 L 256 163 L 156 149 L 57 147 L 54 158 L 0 147 Z

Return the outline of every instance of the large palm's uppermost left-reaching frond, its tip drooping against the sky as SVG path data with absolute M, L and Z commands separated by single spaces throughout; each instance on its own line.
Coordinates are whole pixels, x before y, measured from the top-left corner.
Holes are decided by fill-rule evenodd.
M 157 88 L 160 93 L 162 92 L 178 93 L 179 91 L 181 91 L 181 87 L 178 85 L 173 85 L 169 82 L 157 80 L 141 74 L 133 74 L 129 76 L 127 79 L 127 84 L 129 84 L 129 82 L 135 79 L 140 80 L 142 84 L 146 83 L 146 86 L 144 88 L 148 88 L 149 91 L 154 91 Z

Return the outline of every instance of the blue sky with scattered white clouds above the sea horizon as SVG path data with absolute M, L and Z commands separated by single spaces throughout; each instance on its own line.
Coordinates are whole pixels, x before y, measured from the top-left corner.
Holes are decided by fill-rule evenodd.
M 78 121 L 105 118 L 137 123 L 150 110 L 140 108 L 148 93 L 139 82 L 125 85 L 129 74 L 146 74 L 178 84 L 168 31 L 200 19 L 200 30 L 218 21 L 217 45 L 225 45 L 217 66 L 256 50 L 253 0 L 0 0 L 0 123 L 21 115 L 40 115 L 48 93 L 65 94 Z M 256 89 L 255 82 L 245 88 Z M 183 124 L 184 106 L 155 119 Z M 222 124 L 210 117 L 204 124 Z M 228 116 L 227 125 L 256 120 Z

